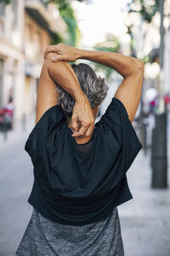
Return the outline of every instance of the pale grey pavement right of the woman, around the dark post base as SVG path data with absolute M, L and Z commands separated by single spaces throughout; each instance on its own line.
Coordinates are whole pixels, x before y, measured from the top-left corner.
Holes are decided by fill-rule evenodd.
M 133 199 L 118 207 L 125 256 L 169 256 L 170 187 L 150 188 L 150 157 L 144 158 L 142 151 L 127 179 Z

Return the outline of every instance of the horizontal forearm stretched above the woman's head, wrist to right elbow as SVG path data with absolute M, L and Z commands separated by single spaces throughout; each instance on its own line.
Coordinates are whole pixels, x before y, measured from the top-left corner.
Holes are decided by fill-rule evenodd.
M 78 59 L 94 61 L 107 67 L 111 67 L 120 73 L 123 78 L 133 75 L 133 73 L 138 73 L 139 69 L 141 69 L 144 64 L 143 61 L 137 58 L 115 52 L 86 49 L 77 49 L 77 51 Z

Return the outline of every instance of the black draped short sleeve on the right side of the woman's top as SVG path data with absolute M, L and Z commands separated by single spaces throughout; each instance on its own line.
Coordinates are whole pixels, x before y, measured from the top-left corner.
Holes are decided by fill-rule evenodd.
M 100 126 L 102 131 L 110 131 L 112 136 L 116 138 L 115 142 L 119 143 L 122 172 L 119 172 L 118 176 L 123 176 L 132 165 L 133 160 L 142 148 L 142 144 L 131 121 L 128 119 L 125 106 L 119 99 L 112 98 L 97 126 Z

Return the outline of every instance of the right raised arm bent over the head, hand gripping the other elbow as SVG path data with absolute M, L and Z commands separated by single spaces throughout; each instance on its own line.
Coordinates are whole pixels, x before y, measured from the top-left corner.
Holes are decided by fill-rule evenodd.
M 44 52 L 44 56 L 48 52 L 58 53 L 54 61 L 85 59 L 111 67 L 120 73 L 123 80 L 116 90 L 115 97 L 122 101 L 127 109 L 128 118 L 133 122 L 142 93 L 144 61 L 115 52 L 77 49 L 66 44 L 49 46 Z

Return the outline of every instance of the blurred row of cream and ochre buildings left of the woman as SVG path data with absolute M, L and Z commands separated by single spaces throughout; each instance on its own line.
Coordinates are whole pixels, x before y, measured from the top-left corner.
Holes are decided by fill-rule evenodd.
M 14 122 L 35 112 L 43 51 L 67 26 L 54 4 L 42 0 L 0 3 L 0 108 L 12 96 Z

